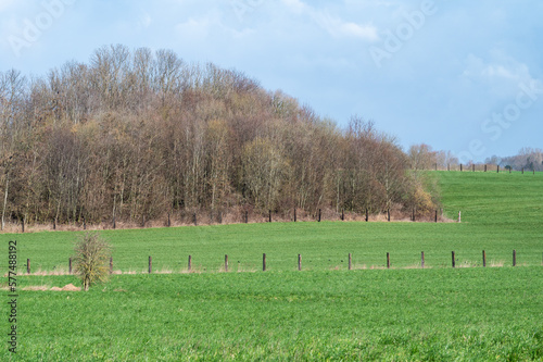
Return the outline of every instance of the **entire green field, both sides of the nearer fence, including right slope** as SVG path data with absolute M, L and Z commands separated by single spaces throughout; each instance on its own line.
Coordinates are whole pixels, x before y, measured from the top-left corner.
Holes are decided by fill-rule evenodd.
M 36 273 L 17 280 L 16 359 L 0 360 L 543 360 L 543 174 L 432 174 L 462 223 L 106 230 L 123 274 L 89 292 L 29 290 L 78 283 L 46 275 L 67 271 L 77 233 L 1 235 Z

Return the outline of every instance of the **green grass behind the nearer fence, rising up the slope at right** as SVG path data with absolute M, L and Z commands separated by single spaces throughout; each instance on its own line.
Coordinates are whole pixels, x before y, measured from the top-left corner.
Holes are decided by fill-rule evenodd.
M 541 265 L 543 257 L 543 173 L 459 173 L 439 172 L 444 213 L 463 223 L 364 223 L 308 222 L 236 224 L 105 230 L 113 245 L 114 269 L 144 272 L 149 255 L 153 270 L 187 270 L 188 255 L 193 269 L 217 272 L 229 255 L 230 270 L 257 271 L 262 254 L 270 271 L 293 271 L 298 254 L 307 270 L 346 269 L 348 254 L 356 267 L 383 267 L 390 252 L 393 267 L 420 264 L 451 265 L 451 251 L 457 265 L 481 265 L 482 250 L 489 265 L 510 265 L 517 250 L 520 265 Z M 33 271 L 66 271 L 75 239 L 72 232 L 0 235 L 16 238 L 20 262 L 31 261 Z

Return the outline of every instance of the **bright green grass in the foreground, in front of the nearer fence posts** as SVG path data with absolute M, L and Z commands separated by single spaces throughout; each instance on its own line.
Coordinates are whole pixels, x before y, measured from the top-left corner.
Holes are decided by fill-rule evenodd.
M 543 359 L 541 267 L 119 275 L 20 299 L 22 360 Z

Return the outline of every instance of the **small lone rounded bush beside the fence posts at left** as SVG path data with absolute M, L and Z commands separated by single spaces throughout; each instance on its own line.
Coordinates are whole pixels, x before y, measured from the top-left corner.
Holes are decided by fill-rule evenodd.
M 100 234 L 83 235 L 75 245 L 74 253 L 74 272 L 81 279 L 85 291 L 92 284 L 108 282 L 111 247 Z

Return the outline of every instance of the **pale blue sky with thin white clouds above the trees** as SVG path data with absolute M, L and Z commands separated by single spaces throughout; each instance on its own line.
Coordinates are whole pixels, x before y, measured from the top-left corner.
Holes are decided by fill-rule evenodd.
M 172 49 L 345 127 L 460 162 L 543 148 L 535 0 L 0 0 L 0 72 L 43 76 L 104 46 Z

